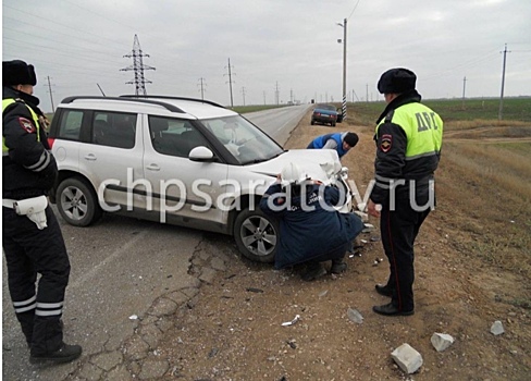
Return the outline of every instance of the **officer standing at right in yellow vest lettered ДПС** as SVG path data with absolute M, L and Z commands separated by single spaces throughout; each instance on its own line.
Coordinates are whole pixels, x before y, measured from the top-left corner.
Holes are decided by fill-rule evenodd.
M 376 292 L 391 303 L 374 306 L 386 316 L 412 315 L 413 243 L 422 222 L 435 205 L 434 171 L 439 165 L 443 121 L 420 103 L 417 76 L 407 69 L 382 74 L 378 90 L 387 106 L 376 122 L 374 140 L 375 186 L 368 212 L 380 217 L 380 231 L 390 261 L 390 278 Z

